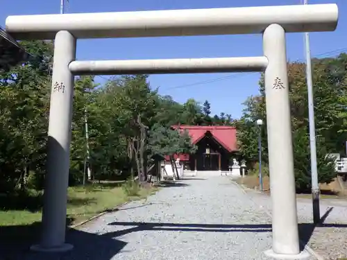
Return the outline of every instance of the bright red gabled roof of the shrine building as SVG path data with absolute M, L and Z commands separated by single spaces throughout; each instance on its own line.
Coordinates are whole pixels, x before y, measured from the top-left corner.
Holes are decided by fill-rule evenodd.
M 206 132 L 211 132 L 216 141 L 221 144 L 229 152 L 237 150 L 236 128 L 226 125 L 173 125 L 175 129 L 187 130 L 192 143 L 197 144 L 198 141 L 205 137 Z

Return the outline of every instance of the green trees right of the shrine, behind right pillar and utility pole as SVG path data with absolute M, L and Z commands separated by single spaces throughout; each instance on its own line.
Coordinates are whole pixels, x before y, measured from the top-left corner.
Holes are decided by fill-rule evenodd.
M 319 182 L 329 183 L 336 177 L 328 153 L 344 153 L 347 140 L 347 55 L 337 58 L 313 60 L 314 108 L 316 124 L 316 148 Z M 296 188 L 307 190 L 311 187 L 310 140 L 308 136 L 307 86 L 305 64 L 288 64 L 289 98 L 291 103 L 291 125 L 294 142 L 294 170 Z M 262 159 L 268 162 L 266 141 L 266 110 L 264 78 L 260 79 L 260 95 L 251 96 L 244 103 L 246 108 L 242 118 L 235 123 L 238 129 L 239 148 L 242 155 L 251 162 L 257 162 L 257 119 L 262 119 Z M 276 173 L 275 173 L 276 174 Z

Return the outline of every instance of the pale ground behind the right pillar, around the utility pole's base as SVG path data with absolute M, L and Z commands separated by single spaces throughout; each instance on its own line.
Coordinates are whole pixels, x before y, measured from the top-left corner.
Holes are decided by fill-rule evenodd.
M 246 190 L 248 196 L 257 204 L 271 212 L 271 198 L 253 190 Z M 312 202 L 310 199 L 298 198 L 297 210 L 301 240 L 310 246 L 321 259 L 347 258 L 347 202 L 346 200 L 323 199 L 321 216 L 324 222 L 321 227 L 313 227 Z

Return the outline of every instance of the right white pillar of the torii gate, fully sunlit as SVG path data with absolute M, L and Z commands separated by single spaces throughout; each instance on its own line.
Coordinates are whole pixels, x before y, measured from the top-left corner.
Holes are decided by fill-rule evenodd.
M 299 256 L 287 54 L 282 26 L 267 27 L 263 44 L 264 55 L 269 60 L 265 94 L 273 234 L 273 248 L 266 254 L 278 259 L 303 258 L 306 255 Z

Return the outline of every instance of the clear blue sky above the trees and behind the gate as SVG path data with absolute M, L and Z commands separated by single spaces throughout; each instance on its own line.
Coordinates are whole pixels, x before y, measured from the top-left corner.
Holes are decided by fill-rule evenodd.
M 3 2 L 4 1 L 4 2 Z M 136 10 L 166 10 L 189 8 L 223 8 L 240 6 L 275 6 L 300 4 L 301 0 L 69 0 L 66 12 L 117 12 Z M 337 3 L 339 25 L 337 31 L 311 33 L 312 56 L 337 49 L 347 49 L 347 0 L 309 0 L 309 3 Z M 8 15 L 36 15 L 58 13 L 60 0 L 2 0 L 0 24 Z M 344 33 L 345 30 L 345 33 Z M 345 40 L 344 40 L 345 38 Z M 209 58 L 262 55 L 261 35 L 223 35 L 197 37 L 158 37 L 132 39 L 78 40 L 78 60 L 116 60 L 153 58 Z M 331 55 L 330 54 L 330 55 Z M 303 34 L 287 35 L 289 60 L 303 60 Z M 238 118 L 242 102 L 257 94 L 259 73 L 210 73 L 153 75 L 152 87 L 160 87 L 160 94 L 173 96 L 183 103 L 195 98 L 212 104 L 212 113 L 226 112 Z M 97 77 L 98 82 L 105 77 Z

